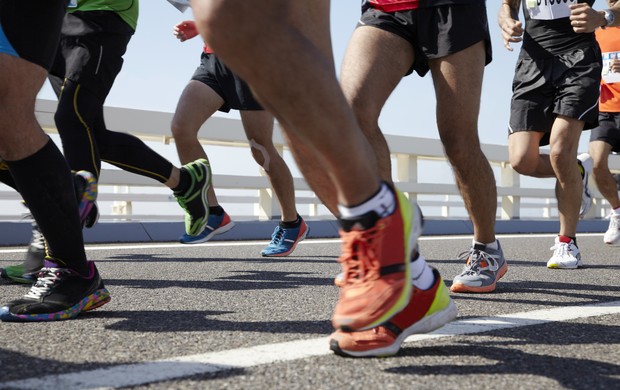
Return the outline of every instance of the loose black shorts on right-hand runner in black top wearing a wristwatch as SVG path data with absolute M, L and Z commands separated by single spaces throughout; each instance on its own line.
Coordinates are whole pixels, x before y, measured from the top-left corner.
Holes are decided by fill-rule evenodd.
M 557 115 L 584 121 L 584 130 L 596 127 L 601 68 L 598 46 L 541 59 L 521 51 L 512 83 L 509 132 L 546 133 L 540 141 L 544 146 Z

